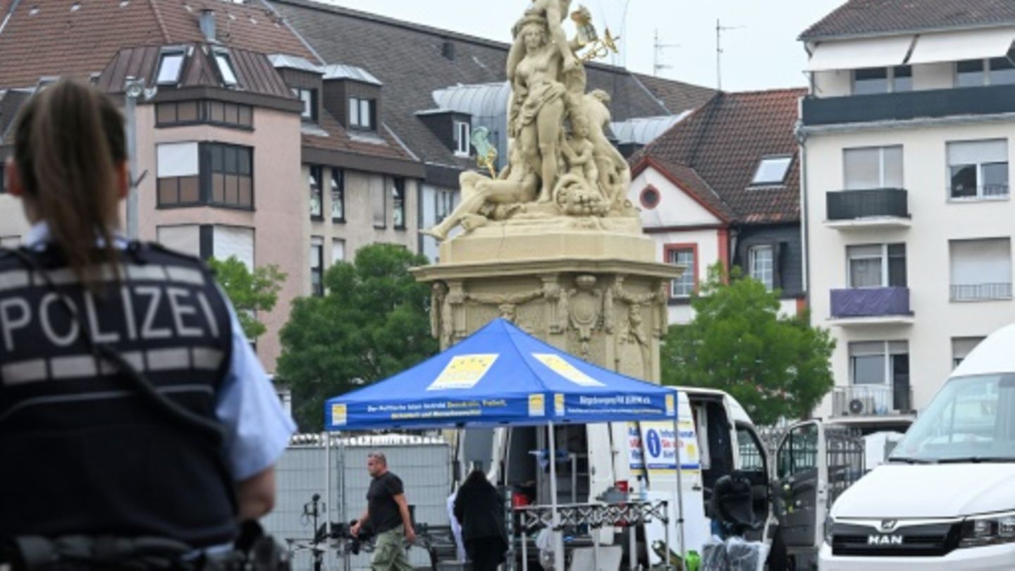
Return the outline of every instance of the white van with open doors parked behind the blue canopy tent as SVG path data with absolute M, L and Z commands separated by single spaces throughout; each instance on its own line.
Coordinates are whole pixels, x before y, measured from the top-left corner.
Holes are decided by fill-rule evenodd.
M 679 387 L 678 419 L 692 419 L 693 433 L 681 427 L 684 449 L 691 446 L 691 458 L 682 456 L 682 490 L 685 512 L 687 551 L 701 553 L 710 536 L 709 520 L 704 516 L 712 489 L 723 475 L 741 470 L 756 490 L 755 517 L 768 520 L 768 463 L 754 424 L 746 410 L 729 394 L 694 387 Z M 609 488 L 626 487 L 632 492 L 645 489 L 650 497 L 671 500 L 674 477 L 653 478 L 648 486 L 631 469 L 629 427 L 627 423 L 563 425 L 555 427 L 557 449 L 567 459 L 557 464 L 557 501 L 560 504 L 591 503 Z M 458 443 L 457 469 L 464 474 L 470 465 L 482 465 L 490 482 L 523 491 L 534 503 L 549 503 L 549 471 L 532 452 L 547 448 L 547 429 L 514 428 L 464 431 Z M 645 447 L 645 445 L 642 445 Z M 763 526 L 754 538 L 762 538 Z M 646 534 L 662 533 L 659 529 Z M 651 537 L 650 537 L 651 538 Z M 676 534 L 671 534 L 672 550 L 679 553 Z M 600 535 L 601 544 L 617 544 L 626 549 L 622 536 Z M 645 549 L 644 546 L 640 549 Z M 655 555 L 650 556 L 658 561 Z

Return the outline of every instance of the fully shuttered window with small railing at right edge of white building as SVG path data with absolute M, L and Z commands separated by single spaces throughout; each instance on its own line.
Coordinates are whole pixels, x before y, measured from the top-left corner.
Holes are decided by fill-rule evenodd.
M 1010 238 L 952 240 L 948 250 L 953 302 L 1012 299 Z

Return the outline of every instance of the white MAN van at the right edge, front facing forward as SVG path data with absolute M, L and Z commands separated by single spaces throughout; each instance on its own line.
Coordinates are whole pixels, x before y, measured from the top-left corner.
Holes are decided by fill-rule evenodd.
M 1015 325 L 952 373 L 832 506 L 821 571 L 1015 569 Z

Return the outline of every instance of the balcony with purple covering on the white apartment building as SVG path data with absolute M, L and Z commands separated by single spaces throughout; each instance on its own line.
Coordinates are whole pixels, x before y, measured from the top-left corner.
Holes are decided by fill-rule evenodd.
M 831 319 L 839 326 L 912 323 L 908 288 L 831 291 Z

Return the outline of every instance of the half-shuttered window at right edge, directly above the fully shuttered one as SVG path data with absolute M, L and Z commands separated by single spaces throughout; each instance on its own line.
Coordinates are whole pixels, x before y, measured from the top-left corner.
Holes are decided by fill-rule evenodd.
M 948 143 L 948 174 L 952 199 L 1008 197 L 1008 140 Z

